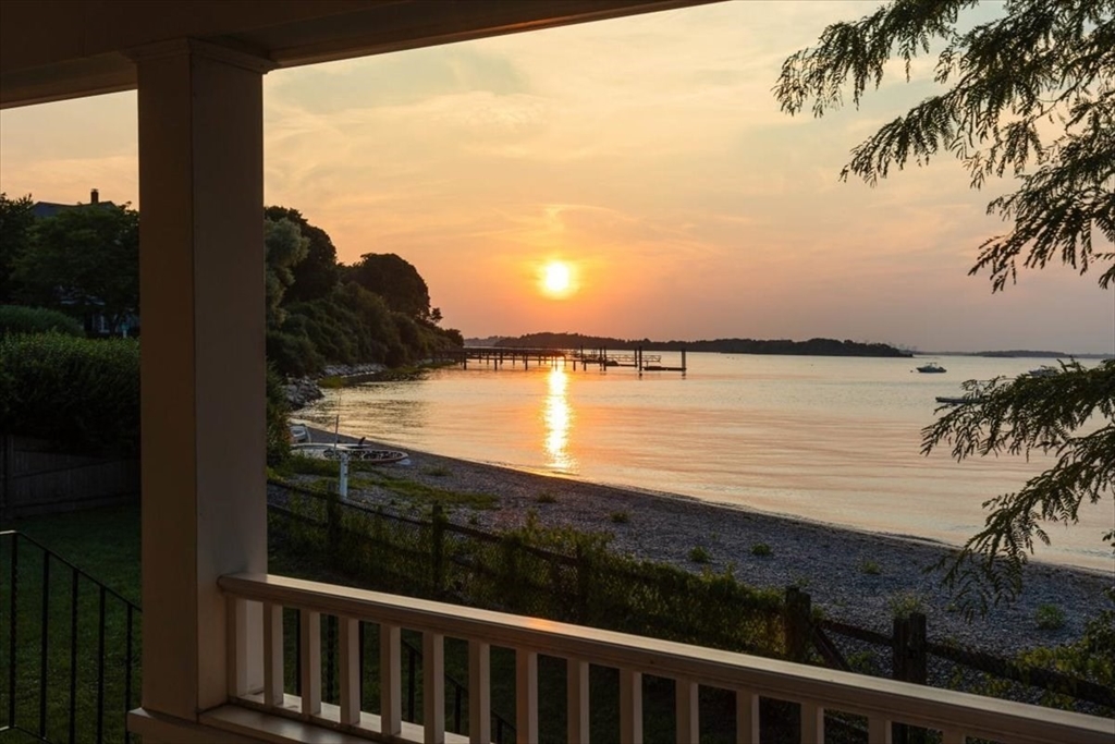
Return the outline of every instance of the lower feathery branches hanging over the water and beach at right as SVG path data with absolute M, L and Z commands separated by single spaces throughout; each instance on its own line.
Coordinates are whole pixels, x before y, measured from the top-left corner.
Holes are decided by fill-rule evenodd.
M 1094 368 L 1065 363 L 1048 377 L 969 380 L 969 403 L 951 408 L 922 431 L 922 452 L 951 447 L 972 456 L 1051 453 L 1056 462 L 1014 493 L 983 502 L 983 529 L 948 564 L 968 616 L 985 612 L 1021 591 L 1022 569 L 1035 541 L 1049 544 L 1044 522 L 1073 524 L 1080 505 L 1115 494 L 1115 359 Z M 1115 529 L 1102 535 L 1115 549 Z

